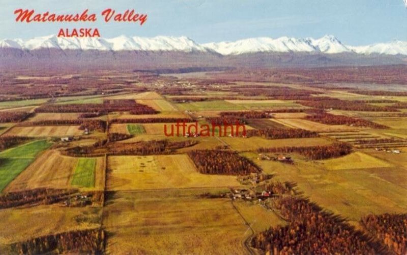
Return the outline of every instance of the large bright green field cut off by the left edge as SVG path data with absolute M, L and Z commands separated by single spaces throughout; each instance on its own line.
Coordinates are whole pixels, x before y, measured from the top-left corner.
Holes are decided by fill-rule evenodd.
M 0 153 L 0 192 L 49 146 L 47 140 L 39 140 Z

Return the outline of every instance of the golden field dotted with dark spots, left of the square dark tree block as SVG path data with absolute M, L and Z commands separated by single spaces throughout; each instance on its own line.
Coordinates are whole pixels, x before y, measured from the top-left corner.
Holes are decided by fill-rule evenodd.
M 234 176 L 203 175 L 185 154 L 109 156 L 108 190 L 240 186 Z

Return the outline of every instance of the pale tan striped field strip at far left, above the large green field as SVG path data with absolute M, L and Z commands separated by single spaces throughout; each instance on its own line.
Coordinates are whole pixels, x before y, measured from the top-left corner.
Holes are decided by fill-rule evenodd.
M 83 130 L 79 126 L 31 126 L 13 127 L 6 135 L 30 136 L 30 137 L 54 137 L 81 135 Z

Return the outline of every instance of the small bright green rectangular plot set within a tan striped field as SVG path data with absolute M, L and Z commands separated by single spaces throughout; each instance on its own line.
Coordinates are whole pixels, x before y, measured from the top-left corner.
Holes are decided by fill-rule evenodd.
M 96 158 L 80 158 L 72 176 L 72 185 L 95 187 Z

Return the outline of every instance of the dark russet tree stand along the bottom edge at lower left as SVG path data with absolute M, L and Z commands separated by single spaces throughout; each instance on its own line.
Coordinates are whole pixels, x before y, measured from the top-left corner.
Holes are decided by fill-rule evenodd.
M 79 253 L 102 254 L 105 233 L 102 229 L 70 231 L 12 244 L 18 254 Z

